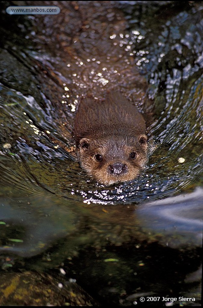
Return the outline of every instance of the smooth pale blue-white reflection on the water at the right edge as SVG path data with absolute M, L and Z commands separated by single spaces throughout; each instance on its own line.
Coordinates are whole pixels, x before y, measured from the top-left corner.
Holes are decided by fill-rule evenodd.
M 202 188 L 138 208 L 137 219 L 150 233 L 161 233 L 163 245 L 172 248 L 202 245 Z M 168 241 L 167 241 L 168 239 Z

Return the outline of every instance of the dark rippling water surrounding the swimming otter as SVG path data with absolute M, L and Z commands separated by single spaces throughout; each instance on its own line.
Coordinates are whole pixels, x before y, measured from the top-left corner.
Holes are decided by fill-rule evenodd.
M 57 5 L 59 15 L 10 16 L 9 3 L 1 3 L 2 271 L 63 266 L 67 279 L 103 304 L 142 305 L 144 296 L 145 305 L 164 305 L 147 297 L 192 296 L 195 302 L 174 305 L 197 305 L 202 2 Z M 145 172 L 107 188 L 69 150 L 81 97 L 111 89 L 146 114 L 153 109 L 154 119 Z

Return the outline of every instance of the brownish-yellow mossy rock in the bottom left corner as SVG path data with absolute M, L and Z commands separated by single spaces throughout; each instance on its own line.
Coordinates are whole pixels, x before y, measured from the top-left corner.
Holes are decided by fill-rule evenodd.
M 99 306 L 76 283 L 26 271 L 0 277 L 1 306 Z

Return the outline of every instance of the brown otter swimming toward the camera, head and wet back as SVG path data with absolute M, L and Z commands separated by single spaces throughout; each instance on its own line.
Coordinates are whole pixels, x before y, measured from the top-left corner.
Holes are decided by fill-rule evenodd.
M 81 167 L 104 185 L 133 180 L 148 161 L 144 118 L 115 91 L 104 101 L 81 100 L 74 137 Z

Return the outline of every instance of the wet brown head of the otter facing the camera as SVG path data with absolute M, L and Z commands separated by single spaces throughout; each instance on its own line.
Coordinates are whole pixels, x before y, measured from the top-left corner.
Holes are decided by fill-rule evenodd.
M 147 136 L 82 138 L 77 154 L 81 167 L 101 184 L 133 180 L 148 161 Z

